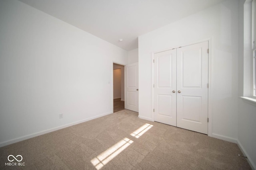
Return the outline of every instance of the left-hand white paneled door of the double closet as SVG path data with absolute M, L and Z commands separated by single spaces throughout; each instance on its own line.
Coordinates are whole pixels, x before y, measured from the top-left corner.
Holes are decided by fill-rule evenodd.
M 154 54 L 154 120 L 176 126 L 176 49 Z

